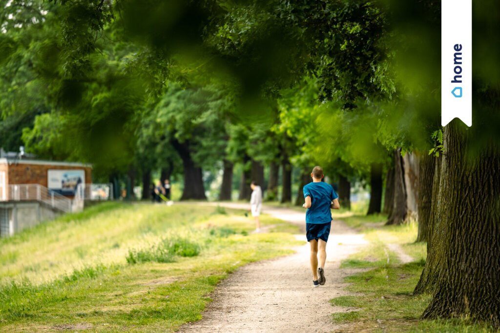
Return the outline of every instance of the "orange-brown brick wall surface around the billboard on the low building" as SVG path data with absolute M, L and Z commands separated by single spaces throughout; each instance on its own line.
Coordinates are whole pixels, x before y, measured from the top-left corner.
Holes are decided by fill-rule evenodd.
M 81 170 L 85 171 L 85 184 L 92 183 L 92 169 L 73 165 L 48 164 L 11 164 L 8 166 L 8 184 L 40 184 L 47 187 L 48 170 Z

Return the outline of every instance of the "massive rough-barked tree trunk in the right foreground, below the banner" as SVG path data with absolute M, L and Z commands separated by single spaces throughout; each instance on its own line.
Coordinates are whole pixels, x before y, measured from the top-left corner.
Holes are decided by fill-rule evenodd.
M 444 128 L 440 222 L 432 235 L 432 243 L 443 240 L 443 262 L 422 317 L 500 328 L 500 152 L 493 142 L 477 148 L 470 132 L 458 120 Z

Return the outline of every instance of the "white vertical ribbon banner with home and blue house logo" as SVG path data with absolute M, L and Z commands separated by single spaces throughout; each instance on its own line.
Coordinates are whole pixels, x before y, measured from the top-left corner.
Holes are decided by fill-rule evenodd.
M 472 126 L 472 0 L 441 0 L 441 125 Z

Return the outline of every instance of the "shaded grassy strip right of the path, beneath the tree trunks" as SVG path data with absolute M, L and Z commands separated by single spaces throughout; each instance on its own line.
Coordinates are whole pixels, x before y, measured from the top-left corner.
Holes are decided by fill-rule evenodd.
M 345 278 L 347 290 L 358 296 L 342 296 L 332 305 L 350 308 L 350 312 L 332 316 L 337 323 L 348 324 L 354 332 L 490 332 L 485 324 L 466 319 L 424 321 L 420 315 L 430 295 L 411 296 L 425 264 L 424 243 L 414 243 L 416 223 L 383 226 L 385 216 L 352 215 L 339 212 L 337 217 L 364 233 L 370 243 L 359 253 L 342 262 L 343 268 L 364 268 L 366 272 Z M 335 217 L 335 214 L 334 214 Z M 399 244 L 413 262 L 401 265 L 386 244 Z

